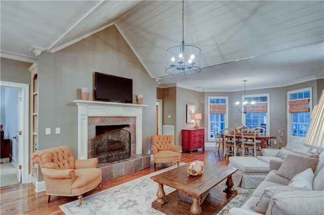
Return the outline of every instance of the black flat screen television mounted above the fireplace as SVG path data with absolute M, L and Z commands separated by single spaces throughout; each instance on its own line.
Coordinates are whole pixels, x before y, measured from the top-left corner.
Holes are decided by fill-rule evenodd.
M 133 103 L 133 79 L 95 72 L 95 100 Z

